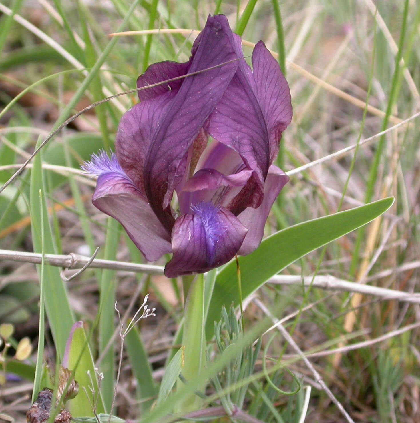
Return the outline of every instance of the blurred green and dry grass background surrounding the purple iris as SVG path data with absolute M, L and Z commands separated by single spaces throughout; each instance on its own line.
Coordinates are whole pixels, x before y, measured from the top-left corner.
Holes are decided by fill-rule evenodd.
M 2 0 L 0 183 L 28 158 L 38 139 L 73 113 L 135 88 L 138 74 L 150 63 L 186 60 L 196 36 L 190 30 L 201 29 L 215 11 L 226 14 L 244 40 L 265 41 L 285 66 L 294 116 L 279 155 L 284 170 L 327 157 L 419 111 L 416 1 Z M 184 31 L 168 33 L 167 28 Z M 150 29 L 160 31 L 109 36 Z M 251 53 L 249 45 L 244 45 L 245 55 Z M 135 93 L 119 96 L 77 117 L 1 192 L 0 248 L 91 256 L 99 246 L 98 258 L 142 262 L 116 222 L 91 205 L 94 181 L 79 170 L 91 153 L 112 148 L 119 118 L 135 102 Z M 265 316 L 287 316 L 284 326 L 355 421 L 420 421 L 420 298 L 413 294 L 420 267 L 419 133 L 418 119 L 412 118 L 356 152 L 292 172 L 274 204 L 267 235 L 390 195 L 395 203 L 368 226 L 288 266 L 260 288 L 253 301 L 244 303 L 247 330 Z M 178 282 L 110 269 L 87 269 L 64 283 L 58 267 L 45 266 L 40 274 L 41 284 L 34 264 L 10 259 L 0 263 L 0 323 L 14 325 L 7 370 L 0 366 L 0 414 L 21 422 L 31 404 L 36 354 L 28 343 L 36 352 L 42 286 L 47 297 L 59 299 L 49 311 L 57 328 L 55 345 L 45 323 L 47 364 L 54 369 L 55 354 L 63 356 L 73 317 L 86 322 L 87 331 L 93 328 L 89 344 L 104 374 L 105 404 L 113 397 L 119 355 L 120 338 L 109 343 L 118 328 L 114 302 L 122 314 L 128 309 L 133 315 L 150 293 L 149 306 L 156 308 L 156 316 L 142 320 L 125 339 L 113 411 L 124 419 L 144 416 L 157 393 L 154 382 L 144 378 L 151 375 L 160 382 L 180 324 Z M 346 281 L 372 289 L 362 295 Z M 395 300 L 395 292 L 376 287 L 412 295 Z M 296 354 L 283 335 L 271 344 L 270 335 L 262 338 L 268 357 Z M 14 358 L 17 343 L 25 337 L 29 342 L 20 347 L 21 352 L 26 348 L 25 354 Z M 0 344 L 0 358 L 6 357 L 2 348 Z M 261 366 L 260 354 L 256 371 Z M 288 368 L 312 390 L 286 396 L 258 379 L 247 397 L 251 414 L 266 422 L 298 423 L 307 397 L 306 421 L 343 420 L 307 363 L 294 360 Z M 283 390 L 294 389 L 284 372 L 273 380 Z

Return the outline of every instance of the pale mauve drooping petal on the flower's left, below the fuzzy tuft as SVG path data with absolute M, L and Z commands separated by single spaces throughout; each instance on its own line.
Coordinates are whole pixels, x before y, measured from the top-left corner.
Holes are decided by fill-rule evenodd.
M 102 173 L 97 180 L 92 203 L 122 224 L 148 261 L 155 261 L 171 252 L 168 232 L 153 213 L 146 197 L 124 173 Z

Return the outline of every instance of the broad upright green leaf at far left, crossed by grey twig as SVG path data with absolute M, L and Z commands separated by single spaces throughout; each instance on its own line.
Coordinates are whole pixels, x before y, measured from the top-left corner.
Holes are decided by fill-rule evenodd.
M 39 144 L 39 143 L 38 143 Z M 47 210 L 45 201 L 44 174 L 41 165 L 41 154 L 38 154 L 33 161 L 33 168 L 30 176 L 30 209 L 31 209 L 31 230 L 33 251 L 42 252 L 41 241 L 41 205 L 39 203 L 39 190 L 41 190 L 42 209 Z M 55 253 L 52 241 L 52 232 L 48 217 L 44 214 L 44 243 L 45 253 Z M 40 273 L 40 266 L 37 266 Z M 51 327 L 52 336 L 55 341 L 55 348 L 60 357 L 64 354 L 66 340 L 74 322 L 72 310 L 70 309 L 66 286 L 60 277 L 60 270 L 55 266 L 45 266 L 44 270 L 44 292 L 45 309 Z

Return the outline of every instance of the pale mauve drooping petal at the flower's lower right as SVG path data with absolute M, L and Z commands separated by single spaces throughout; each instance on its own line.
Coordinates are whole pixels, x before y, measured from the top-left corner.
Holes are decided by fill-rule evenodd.
M 238 219 L 249 229 L 238 254 L 252 253 L 259 245 L 264 235 L 264 226 L 270 213 L 271 206 L 285 186 L 289 177 L 277 166 L 271 165 L 264 184 L 264 200 L 260 207 L 248 207 L 238 215 Z

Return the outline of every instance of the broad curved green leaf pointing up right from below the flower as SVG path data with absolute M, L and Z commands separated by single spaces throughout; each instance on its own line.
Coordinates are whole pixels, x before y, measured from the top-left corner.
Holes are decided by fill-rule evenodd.
M 299 223 L 269 236 L 254 253 L 239 258 L 243 297 L 252 294 L 266 280 L 304 255 L 380 216 L 393 202 L 392 197 L 384 198 L 365 206 Z M 213 322 L 218 320 L 222 305 L 239 303 L 235 280 L 236 262 L 231 262 L 216 278 L 206 322 L 207 339 L 213 337 Z

